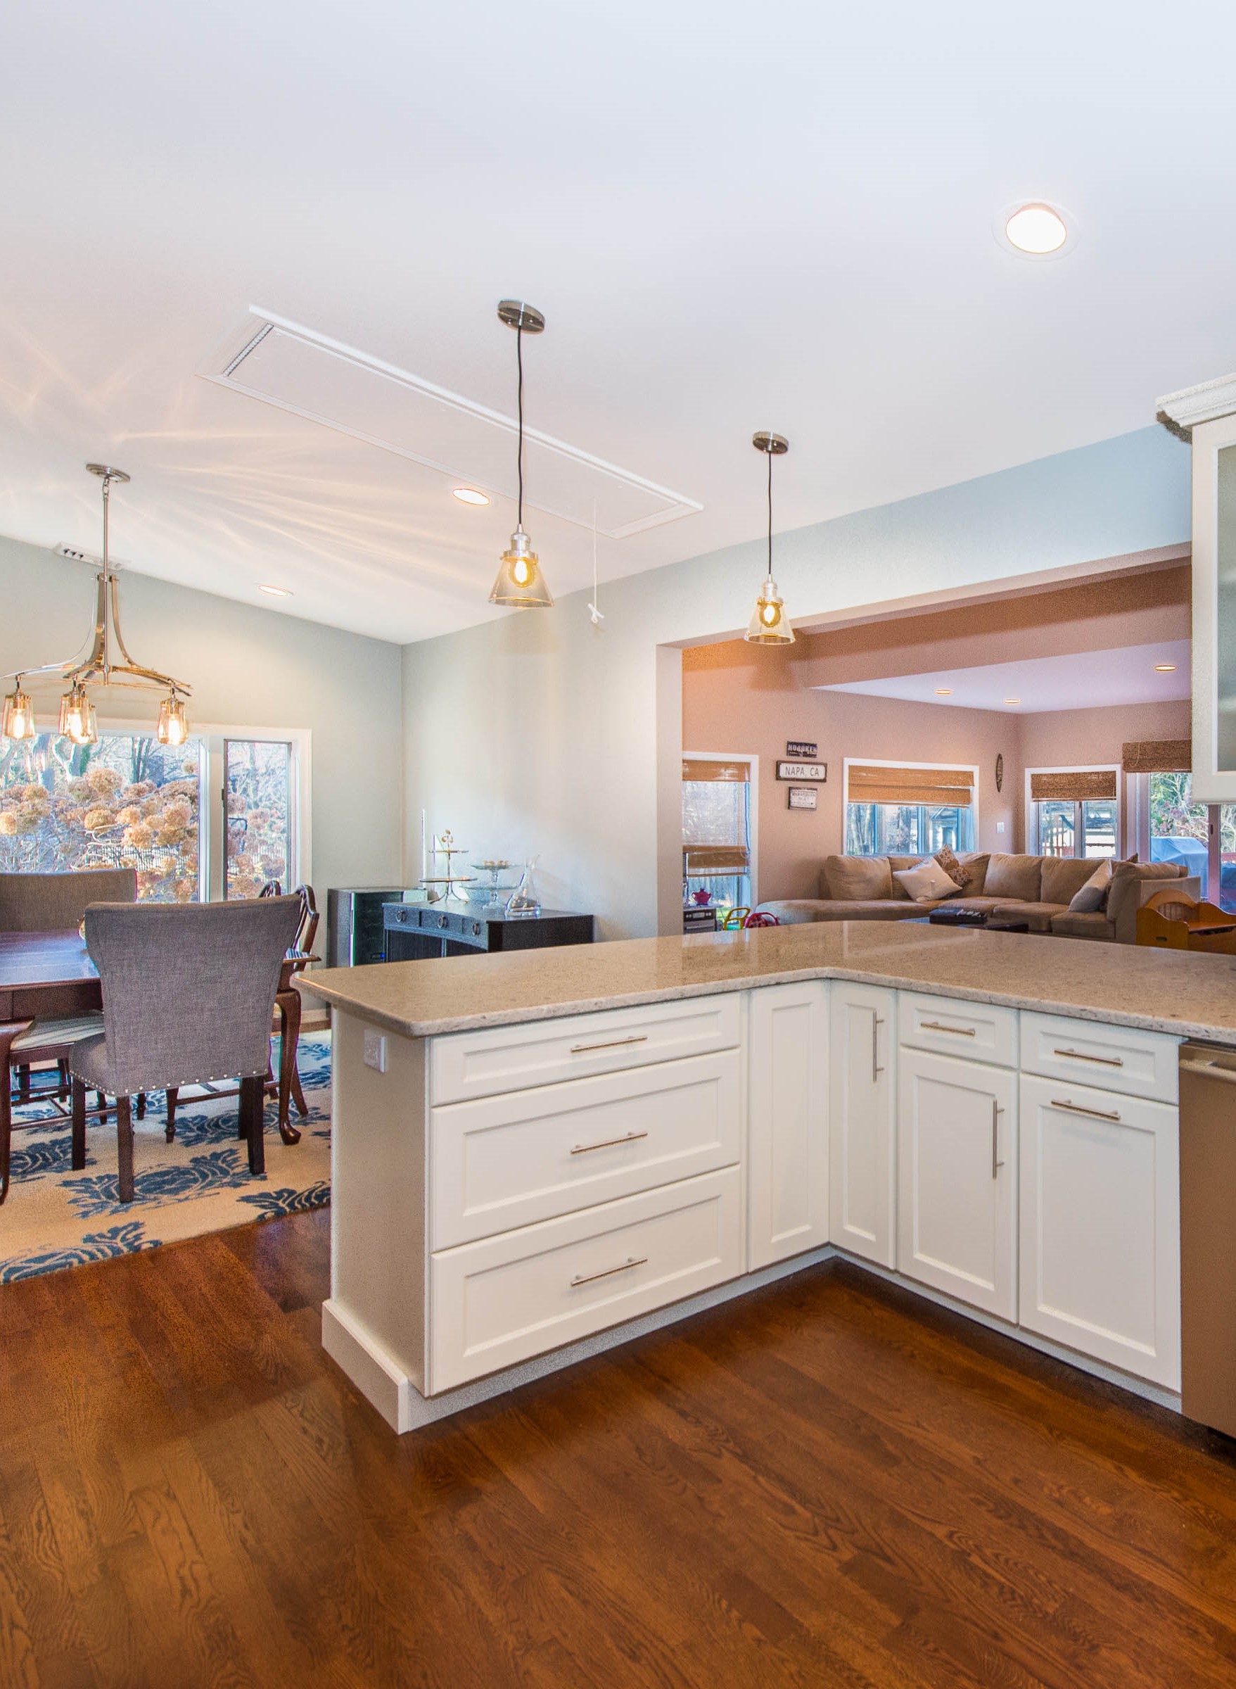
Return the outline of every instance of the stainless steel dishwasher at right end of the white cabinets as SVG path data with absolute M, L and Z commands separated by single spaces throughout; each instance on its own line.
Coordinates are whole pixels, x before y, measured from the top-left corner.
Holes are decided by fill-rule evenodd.
M 1180 1410 L 1236 1437 L 1236 1049 L 1180 1045 Z

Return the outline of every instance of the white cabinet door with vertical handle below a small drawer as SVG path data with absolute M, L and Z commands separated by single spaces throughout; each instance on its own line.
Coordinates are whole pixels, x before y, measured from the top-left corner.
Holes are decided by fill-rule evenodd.
M 1016 1319 L 1016 1074 L 903 1049 L 900 1272 Z

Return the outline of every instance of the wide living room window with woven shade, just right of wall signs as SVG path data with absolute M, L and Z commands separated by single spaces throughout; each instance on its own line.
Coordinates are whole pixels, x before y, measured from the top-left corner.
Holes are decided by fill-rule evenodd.
M 978 768 L 846 758 L 846 855 L 974 850 Z

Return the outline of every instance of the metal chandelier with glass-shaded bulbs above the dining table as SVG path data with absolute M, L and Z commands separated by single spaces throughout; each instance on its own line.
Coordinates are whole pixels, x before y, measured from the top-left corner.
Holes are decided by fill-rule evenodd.
M 74 745 L 93 745 L 98 740 L 95 704 L 89 686 L 135 686 L 142 691 L 162 692 L 159 704 L 159 725 L 155 735 L 160 745 L 184 745 L 189 736 L 189 718 L 184 713 L 184 699 L 192 687 L 184 681 L 174 681 L 171 674 L 157 669 L 144 669 L 125 650 L 120 632 L 120 581 L 111 568 L 108 540 L 108 505 L 111 500 L 111 483 L 123 486 L 128 476 L 123 470 L 113 470 L 106 463 L 88 463 L 91 475 L 98 475 L 103 483 L 103 568 L 95 578 L 98 596 L 95 600 L 95 633 L 89 652 L 81 662 L 49 662 L 41 669 L 22 669 L 14 679 L 14 689 L 3 701 L 0 713 L 0 735 L 14 740 L 34 738 L 34 706 L 22 689 L 22 681 L 35 674 L 59 674 L 68 682 L 68 692 L 61 698 L 59 733 Z

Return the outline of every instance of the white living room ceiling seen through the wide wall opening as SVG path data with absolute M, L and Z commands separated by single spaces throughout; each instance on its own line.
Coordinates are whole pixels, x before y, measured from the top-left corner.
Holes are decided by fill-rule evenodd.
M 919 704 L 1001 709 L 1010 716 L 1028 716 L 1044 709 L 1101 709 L 1104 704 L 1157 704 L 1189 698 L 1189 640 L 1177 638 L 1158 645 L 1123 645 L 1119 650 L 1086 650 L 1069 657 L 991 662 L 978 669 L 902 674 L 886 681 L 841 681 L 816 691 L 865 692 L 868 698 L 905 698 Z M 1174 662 L 1175 671 L 1157 674 L 1158 662 Z M 949 696 L 941 698 L 937 687 L 949 687 Z M 1006 703 L 1010 698 L 1020 703 Z

